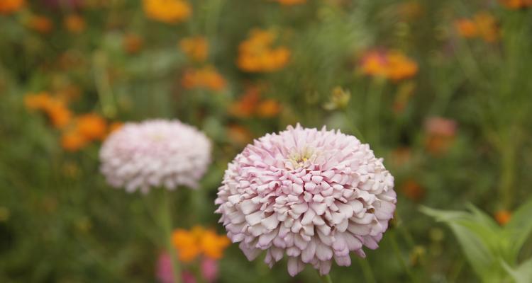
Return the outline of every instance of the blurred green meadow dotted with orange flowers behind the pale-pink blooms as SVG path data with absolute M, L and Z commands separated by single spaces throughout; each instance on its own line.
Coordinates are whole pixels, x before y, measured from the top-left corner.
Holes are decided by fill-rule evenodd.
M 327 125 L 384 158 L 399 198 L 380 248 L 334 282 L 481 281 L 419 206 L 472 203 L 504 225 L 532 196 L 530 1 L 169 2 L 0 0 L 0 282 L 157 282 L 151 196 L 111 189 L 98 160 L 111 125 L 155 117 L 214 143 L 176 228 L 225 233 L 227 163 L 268 132 Z M 319 280 L 237 245 L 219 264 L 218 282 Z

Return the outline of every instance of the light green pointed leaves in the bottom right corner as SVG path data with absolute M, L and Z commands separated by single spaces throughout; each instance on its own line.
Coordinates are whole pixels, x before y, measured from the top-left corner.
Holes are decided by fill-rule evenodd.
M 523 244 L 532 231 L 532 200 L 516 210 L 505 226 L 472 204 L 469 212 L 421 207 L 421 212 L 450 226 L 465 258 L 482 282 L 532 282 L 532 258 L 518 262 Z

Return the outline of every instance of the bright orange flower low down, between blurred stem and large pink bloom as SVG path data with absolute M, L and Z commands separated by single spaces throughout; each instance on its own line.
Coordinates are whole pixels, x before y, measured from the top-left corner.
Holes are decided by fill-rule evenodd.
M 223 256 L 223 250 L 229 246 L 226 236 L 218 236 L 211 229 L 194 226 L 190 231 L 176 229 L 172 234 L 172 243 L 179 252 L 179 260 L 191 262 L 199 255 L 218 260 Z

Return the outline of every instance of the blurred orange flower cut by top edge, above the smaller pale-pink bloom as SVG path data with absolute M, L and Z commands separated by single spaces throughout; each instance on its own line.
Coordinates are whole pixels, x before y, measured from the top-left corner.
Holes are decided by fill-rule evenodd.
M 192 8 L 184 0 L 143 0 L 148 18 L 164 23 L 178 23 L 190 17 Z

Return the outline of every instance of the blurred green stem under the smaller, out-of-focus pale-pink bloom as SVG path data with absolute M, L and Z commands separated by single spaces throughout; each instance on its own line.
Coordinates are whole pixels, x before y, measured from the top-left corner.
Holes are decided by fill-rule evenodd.
M 179 267 L 179 262 L 177 261 L 176 249 L 172 245 L 172 210 L 170 209 L 170 193 L 165 188 L 160 188 L 162 190 L 162 200 L 161 200 L 161 213 L 160 221 L 163 229 L 163 235 L 165 236 L 165 241 L 167 245 L 167 251 L 170 254 L 170 260 L 172 260 L 172 273 L 174 275 L 174 282 L 181 282 L 181 269 Z

